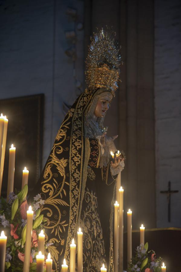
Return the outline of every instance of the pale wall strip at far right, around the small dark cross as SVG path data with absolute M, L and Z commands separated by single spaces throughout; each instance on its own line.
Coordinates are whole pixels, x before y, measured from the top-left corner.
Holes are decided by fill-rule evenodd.
M 155 1 L 155 141 L 157 227 L 181 227 L 181 4 Z M 168 189 L 171 222 L 168 222 Z

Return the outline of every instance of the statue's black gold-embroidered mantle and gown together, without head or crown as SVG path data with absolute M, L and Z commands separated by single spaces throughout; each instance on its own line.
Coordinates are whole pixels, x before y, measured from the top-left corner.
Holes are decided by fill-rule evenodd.
M 70 244 L 83 232 L 83 271 L 113 271 L 113 198 L 115 179 L 109 165 L 99 168 L 100 145 L 84 135 L 84 118 L 96 91 L 82 93 L 57 133 L 44 170 L 31 195 L 41 194 L 41 213 L 53 268 L 69 264 Z M 114 176 L 116 177 L 116 176 Z

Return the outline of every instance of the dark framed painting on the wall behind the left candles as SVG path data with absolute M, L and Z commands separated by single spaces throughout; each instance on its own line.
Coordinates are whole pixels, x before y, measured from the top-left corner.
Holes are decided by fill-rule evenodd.
M 14 191 L 21 190 L 24 167 L 29 170 L 28 189 L 33 189 L 42 168 L 44 94 L 0 100 L 0 114 L 8 118 L 1 195 L 6 197 L 9 148 L 16 147 Z

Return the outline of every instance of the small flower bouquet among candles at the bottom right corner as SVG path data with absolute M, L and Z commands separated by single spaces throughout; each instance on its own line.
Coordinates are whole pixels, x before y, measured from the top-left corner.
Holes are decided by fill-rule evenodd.
M 128 266 L 129 272 L 161 272 L 162 258 L 156 258 L 153 250 L 148 251 L 148 243 L 140 244 L 136 248 L 135 257 L 132 257 Z

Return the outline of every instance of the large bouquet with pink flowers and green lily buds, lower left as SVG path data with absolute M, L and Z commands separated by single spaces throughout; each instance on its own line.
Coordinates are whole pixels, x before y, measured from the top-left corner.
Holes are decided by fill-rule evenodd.
M 9 194 L 8 203 L 1 197 L 0 231 L 4 230 L 7 239 L 5 271 L 22 271 L 24 262 L 24 244 L 26 241 L 26 223 L 28 204 L 26 200 L 27 184 L 21 192 Z M 33 231 L 31 241 L 30 271 L 36 271 L 36 255 L 38 254 L 37 233 L 43 228 L 43 214 L 40 214 L 44 200 L 38 194 L 31 203 L 34 210 Z

